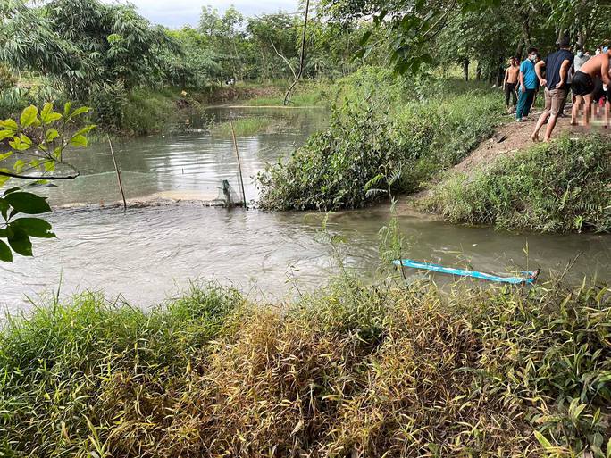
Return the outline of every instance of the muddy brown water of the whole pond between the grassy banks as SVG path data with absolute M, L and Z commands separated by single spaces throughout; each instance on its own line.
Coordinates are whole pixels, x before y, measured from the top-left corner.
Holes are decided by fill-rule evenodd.
M 214 114 L 278 121 L 280 129 L 239 137 L 249 199 L 256 198 L 254 178 L 264 164 L 290 154 L 326 122 L 320 110 L 217 109 Z M 12 313 L 29 310 L 28 298 L 44 301 L 60 279 L 62 296 L 104 291 L 111 299 L 121 296 L 146 307 L 179 294 L 193 280 L 213 279 L 276 301 L 321 287 L 337 274 L 338 250 L 322 233 L 322 215 L 193 202 L 218 196 L 223 179 L 239 189 L 230 137 L 205 131 L 142 137 L 116 141 L 115 152 L 129 198 L 174 201 L 123 213 L 108 205 L 120 195 L 107 146 L 73 155 L 70 162 L 81 171 L 80 178 L 44 190 L 56 208 L 50 220 L 58 238 L 36 240 L 33 258 L 0 264 L 0 307 Z M 375 278 L 379 231 L 388 221 L 384 205 L 329 216 L 327 231 L 345 240 L 339 254 L 348 269 Z M 405 255 L 413 259 L 494 272 L 541 267 L 548 276 L 577 257 L 568 279 L 609 279 L 609 235 L 519 234 L 454 226 L 410 212 L 398 221 Z

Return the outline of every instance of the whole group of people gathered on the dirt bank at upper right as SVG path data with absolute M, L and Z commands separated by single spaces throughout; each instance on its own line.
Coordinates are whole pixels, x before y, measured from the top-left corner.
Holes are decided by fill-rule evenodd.
M 571 124 L 576 125 L 583 106 L 583 125 L 590 125 L 592 106 L 605 107 L 605 125 L 609 124 L 611 86 L 609 60 L 611 50 L 598 48 L 595 55 L 577 46 L 577 54 L 571 51 L 569 38 L 558 44 L 558 50 L 545 59 L 536 48 L 530 48 L 526 59 L 518 63 L 512 58 L 505 72 L 505 104 L 509 112 L 515 110 L 515 120 L 527 121 L 540 87 L 544 87 L 545 109 L 532 132 L 532 141 L 539 141 L 539 132 L 547 122 L 544 141 L 548 141 L 556 127 L 557 118 L 563 115 L 569 91 L 573 92 Z M 513 106 L 510 105 L 510 100 Z

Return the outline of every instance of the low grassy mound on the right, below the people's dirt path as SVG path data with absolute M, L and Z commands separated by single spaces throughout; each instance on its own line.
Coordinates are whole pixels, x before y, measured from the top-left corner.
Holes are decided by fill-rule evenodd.
M 443 180 L 421 205 L 452 222 L 537 231 L 611 230 L 611 146 L 561 137 Z

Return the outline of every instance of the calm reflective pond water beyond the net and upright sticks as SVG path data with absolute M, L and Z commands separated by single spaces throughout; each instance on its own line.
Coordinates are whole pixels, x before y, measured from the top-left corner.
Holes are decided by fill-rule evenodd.
M 276 162 L 303 144 L 314 130 L 322 128 L 326 117 L 321 110 L 256 108 L 215 109 L 213 114 L 219 120 L 229 115 L 233 118 L 264 115 L 276 119 L 276 125 L 281 123 L 280 132 L 238 138 L 248 199 L 256 198 L 254 178 L 265 162 Z M 211 136 L 205 132 L 157 135 L 118 139 L 113 141 L 113 146 L 128 198 L 180 191 L 213 199 L 218 196 L 223 179 L 235 188 L 238 186 L 238 162 L 229 136 Z M 121 199 L 113 158 L 105 142 L 68 154 L 66 162 L 74 165 L 81 175 L 48 191 L 54 204 L 97 204 Z

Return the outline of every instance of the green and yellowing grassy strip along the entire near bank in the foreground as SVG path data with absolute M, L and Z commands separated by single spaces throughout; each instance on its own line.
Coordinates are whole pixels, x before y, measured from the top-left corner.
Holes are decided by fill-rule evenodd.
M 345 279 L 283 313 L 214 286 L 150 312 L 80 296 L 4 326 L 0 451 L 602 458 L 610 320 L 586 285 Z

